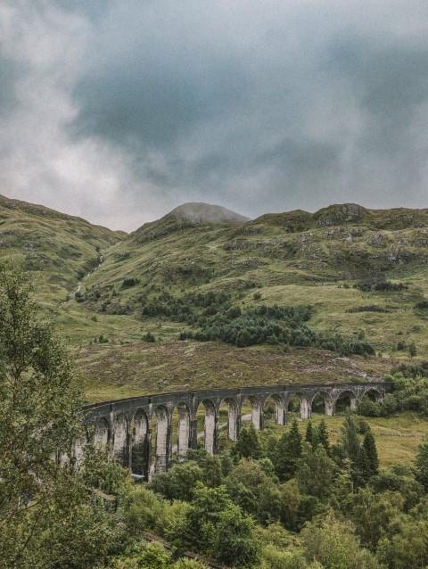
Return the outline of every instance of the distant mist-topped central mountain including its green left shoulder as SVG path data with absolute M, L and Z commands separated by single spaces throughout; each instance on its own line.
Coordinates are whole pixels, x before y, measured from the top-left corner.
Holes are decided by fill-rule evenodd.
M 247 221 L 250 219 L 220 205 L 189 202 L 179 205 L 161 219 L 145 223 L 132 235 L 137 242 L 142 243 L 186 227 L 233 226 Z

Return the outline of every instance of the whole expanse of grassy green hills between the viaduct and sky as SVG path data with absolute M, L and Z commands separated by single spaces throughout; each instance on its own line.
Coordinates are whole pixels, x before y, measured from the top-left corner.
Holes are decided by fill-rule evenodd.
M 428 359 L 428 210 L 248 220 L 191 203 L 126 235 L 6 198 L 0 208 L 2 255 L 39 277 L 90 400 L 383 377 L 413 346 L 412 364 Z

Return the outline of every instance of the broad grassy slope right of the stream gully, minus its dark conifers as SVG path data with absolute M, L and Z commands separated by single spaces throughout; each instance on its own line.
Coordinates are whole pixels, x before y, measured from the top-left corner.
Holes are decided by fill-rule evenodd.
M 88 392 L 100 398 L 101 393 L 123 395 L 149 386 L 163 391 L 201 387 L 201 377 L 220 382 L 214 371 L 218 359 L 234 370 L 234 380 L 225 375 L 226 384 L 251 383 L 251 369 L 255 383 L 292 381 L 293 369 L 300 380 L 382 377 L 409 359 L 412 343 L 414 363 L 428 356 L 428 310 L 415 308 L 428 299 L 427 263 L 427 210 L 366 210 L 344 204 L 314 214 L 298 210 L 203 224 L 171 212 L 112 245 L 100 268 L 84 280 L 78 309 L 95 314 L 96 322 L 86 316 L 73 338 L 85 344 L 80 354 Z M 207 339 L 198 330 L 212 318 L 204 316 L 210 309 L 196 309 L 193 317 L 180 310 L 183 304 L 192 310 L 201 301 L 195 295 L 202 295 L 203 303 L 210 293 L 226 295 L 224 307 L 239 306 L 243 313 L 263 305 L 311 305 L 310 330 L 330 340 L 337 334 L 363 339 L 382 357 L 350 354 L 343 367 L 337 351 L 286 346 L 284 352 L 281 342 L 244 349 L 222 342 L 178 342 L 183 333 Z M 66 324 L 64 329 L 70 331 Z M 147 367 L 147 333 L 156 340 L 150 353 L 158 354 L 161 367 Z M 91 342 L 98 344 L 98 334 L 108 343 L 95 349 Z M 126 348 L 118 350 L 118 344 Z M 276 362 L 273 368 L 267 357 Z M 325 362 L 323 370 L 317 361 Z M 314 375 L 310 370 L 315 368 Z

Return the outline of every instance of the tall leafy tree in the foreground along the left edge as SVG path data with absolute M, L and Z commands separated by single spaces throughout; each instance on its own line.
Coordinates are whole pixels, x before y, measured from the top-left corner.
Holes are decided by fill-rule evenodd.
M 114 531 L 70 468 L 82 401 L 32 290 L 21 269 L 0 267 L 0 567 L 89 566 Z

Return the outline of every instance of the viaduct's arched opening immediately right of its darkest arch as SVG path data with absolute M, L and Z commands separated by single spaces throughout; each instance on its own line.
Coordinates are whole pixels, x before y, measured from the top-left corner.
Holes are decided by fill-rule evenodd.
M 170 419 L 168 409 L 160 405 L 153 409 L 150 417 L 150 475 L 165 472 L 169 465 Z

